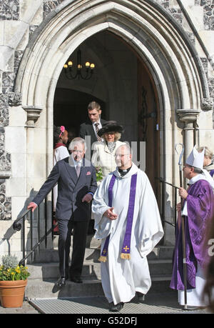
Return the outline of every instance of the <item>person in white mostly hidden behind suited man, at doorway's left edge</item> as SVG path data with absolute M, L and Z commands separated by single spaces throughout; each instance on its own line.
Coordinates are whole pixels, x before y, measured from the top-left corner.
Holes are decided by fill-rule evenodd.
M 68 142 L 68 131 L 65 126 L 54 126 L 54 165 L 57 161 L 61 161 L 69 156 L 66 144 Z M 53 224 L 55 225 L 57 220 L 55 217 L 56 213 L 56 200 L 58 196 L 58 185 L 53 189 Z M 58 226 L 54 228 L 54 234 L 58 234 Z

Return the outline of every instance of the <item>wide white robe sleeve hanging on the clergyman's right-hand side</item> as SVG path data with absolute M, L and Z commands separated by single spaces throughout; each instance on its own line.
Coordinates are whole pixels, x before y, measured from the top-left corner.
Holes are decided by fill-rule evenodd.
M 163 237 L 163 227 L 156 197 L 146 174 L 142 181 L 138 250 L 142 257 L 146 257 Z

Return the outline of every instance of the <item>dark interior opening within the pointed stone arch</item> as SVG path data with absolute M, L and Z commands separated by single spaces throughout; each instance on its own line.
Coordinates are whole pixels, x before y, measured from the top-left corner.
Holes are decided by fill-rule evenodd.
M 87 118 L 88 103 L 97 101 L 103 119 L 123 125 L 121 140 L 133 143 L 138 149 L 136 161 L 142 160 L 140 151 L 145 149 L 140 142 L 146 144 L 143 169 L 158 196 L 155 179 L 159 177 L 158 101 L 146 64 L 126 41 L 109 31 L 91 36 L 78 49 L 82 66 L 85 61 L 92 61 L 95 69 L 88 80 L 68 79 L 62 69 L 54 95 L 54 125 L 64 125 L 73 136 L 78 136 L 79 126 Z M 68 57 L 73 66 L 78 49 Z

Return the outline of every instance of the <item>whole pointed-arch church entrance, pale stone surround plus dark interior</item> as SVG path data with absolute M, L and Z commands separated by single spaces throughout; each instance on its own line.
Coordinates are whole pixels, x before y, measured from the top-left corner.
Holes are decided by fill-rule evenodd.
M 96 68 L 89 80 L 68 80 L 63 64 L 79 47 Z M 179 184 L 174 146 L 193 146 L 205 81 L 192 41 L 157 1 L 62 1 L 31 35 L 14 86 L 26 116 L 26 194 L 53 167 L 53 124 L 78 130 L 91 98 L 102 101 L 103 118 L 123 125 L 123 140 L 146 142 L 146 173 L 159 197 L 156 177 Z M 169 185 L 162 194 L 163 216 L 173 222 L 175 194 Z M 174 229 L 164 229 L 171 243 Z

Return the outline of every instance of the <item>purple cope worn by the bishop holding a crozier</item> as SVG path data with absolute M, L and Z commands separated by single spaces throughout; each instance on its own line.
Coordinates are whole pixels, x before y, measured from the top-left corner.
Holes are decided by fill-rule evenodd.
M 185 217 L 185 248 L 187 267 L 187 289 L 195 288 L 195 274 L 198 265 L 205 269 L 208 264 L 207 233 L 214 219 L 214 195 L 210 184 L 203 179 L 191 184 L 188 189 L 188 217 Z M 173 254 L 173 276 L 170 288 L 184 290 L 183 248 L 181 224 L 177 222 L 175 250 Z

